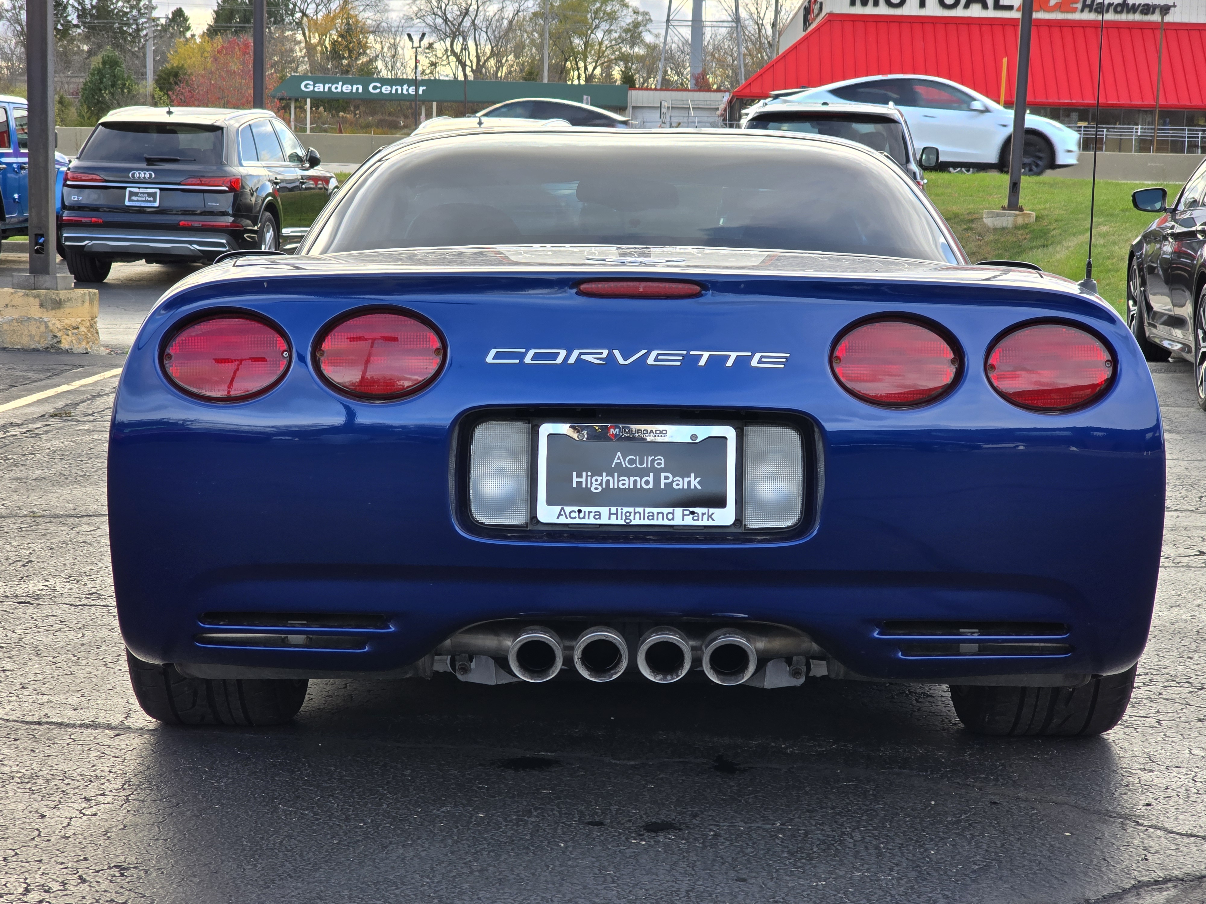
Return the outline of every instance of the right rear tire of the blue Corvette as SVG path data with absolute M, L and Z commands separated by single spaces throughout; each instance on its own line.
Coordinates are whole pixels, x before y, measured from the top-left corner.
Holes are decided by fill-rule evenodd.
M 970 732 L 997 738 L 1087 738 L 1108 732 L 1126 712 L 1135 673 L 1093 679 L 1081 687 L 952 685 L 950 700 Z

